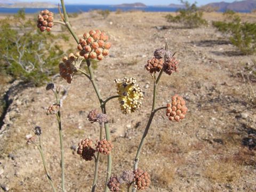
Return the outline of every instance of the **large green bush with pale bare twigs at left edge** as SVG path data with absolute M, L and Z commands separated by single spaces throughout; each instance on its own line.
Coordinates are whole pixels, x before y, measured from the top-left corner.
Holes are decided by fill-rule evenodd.
M 24 11 L 0 21 L 0 69 L 13 79 L 42 85 L 56 73 L 59 57 L 63 54 L 58 39 L 42 34 L 34 20 L 26 19 Z

